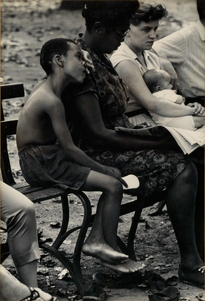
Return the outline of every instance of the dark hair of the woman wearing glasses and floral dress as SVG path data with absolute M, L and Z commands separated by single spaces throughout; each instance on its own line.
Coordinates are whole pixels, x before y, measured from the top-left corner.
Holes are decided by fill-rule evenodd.
M 138 7 L 137 0 L 91 0 L 82 9 L 82 16 L 89 32 L 96 22 L 115 28 L 130 19 Z

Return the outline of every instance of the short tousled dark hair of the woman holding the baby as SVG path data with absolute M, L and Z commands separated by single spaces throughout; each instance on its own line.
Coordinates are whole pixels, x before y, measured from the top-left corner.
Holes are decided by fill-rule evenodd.
M 167 15 L 165 6 L 161 4 L 140 3 L 138 10 L 132 14 L 130 23 L 137 26 L 140 21 L 158 21 Z

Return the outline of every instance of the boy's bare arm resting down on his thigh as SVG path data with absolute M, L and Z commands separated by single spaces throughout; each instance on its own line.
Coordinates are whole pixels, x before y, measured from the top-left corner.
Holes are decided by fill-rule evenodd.
M 67 159 L 81 166 L 90 167 L 96 172 L 100 172 L 105 175 L 111 175 L 117 178 L 125 187 L 127 187 L 126 182 L 121 178 L 120 171 L 112 169 L 112 167 L 97 163 L 96 161 L 88 157 L 78 147 L 76 147 L 76 145 L 73 143 L 70 131 L 66 124 L 64 106 L 58 98 L 49 101 L 49 104 L 46 107 L 46 113 L 48 113 L 51 119 L 54 133 Z

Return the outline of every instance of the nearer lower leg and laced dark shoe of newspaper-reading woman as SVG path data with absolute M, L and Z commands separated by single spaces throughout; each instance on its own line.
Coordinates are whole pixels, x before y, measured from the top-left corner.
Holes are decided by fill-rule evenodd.
M 197 169 L 194 163 L 190 163 L 170 187 L 166 207 L 180 250 L 179 278 L 204 285 L 204 273 L 200 269 L 204 264 L 197 251 L 194 234 L 196 194 Z

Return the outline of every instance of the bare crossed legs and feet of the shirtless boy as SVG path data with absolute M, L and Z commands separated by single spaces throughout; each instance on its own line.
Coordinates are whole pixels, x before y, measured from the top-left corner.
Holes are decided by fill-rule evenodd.
M 91 170 L 82 185 L 82 190 L 102 191 L 95 220 L 82 252 L 100 259 L 101 265 L 118 272 L 129 273 L 143 268 L 140 263 L 130 260 L 127 255 L 121 253 L 117 246 L 117 227 L 123 197 L 122 184 L 114 177 Z

